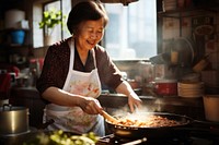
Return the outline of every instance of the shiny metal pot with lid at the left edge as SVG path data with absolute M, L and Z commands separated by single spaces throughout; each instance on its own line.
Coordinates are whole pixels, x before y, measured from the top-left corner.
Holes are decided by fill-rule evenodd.
M 0 135 L 15 135 L 28 132 L 28 109 L 3 105 L 0 107 Z

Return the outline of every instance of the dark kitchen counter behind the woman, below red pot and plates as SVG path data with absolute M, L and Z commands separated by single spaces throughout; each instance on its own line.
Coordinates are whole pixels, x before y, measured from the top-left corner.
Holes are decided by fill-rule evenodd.
M 146 111 L 161 111 L 188 116 L 193 119 L 205 120 L 203 98 L 183 98 L 183 97 L 153 97 L 139 96 L 142 100 L 142 107 Z M 120 94 L 102 94 L 99 100 L 103 107 L 115 109 L 126 109 L 127 97 Z M 107 110 L 111 112 L 111 110 Z

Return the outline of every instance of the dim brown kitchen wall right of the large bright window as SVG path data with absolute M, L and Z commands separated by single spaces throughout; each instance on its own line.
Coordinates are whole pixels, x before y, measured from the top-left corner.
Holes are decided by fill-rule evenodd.
M 205 82 L 207 93 L 218 93 L 216 89 L 219 88 L 219 3 L 214 0 L 198 2 L 200 4 L 195 3 L 197 5 L 191 3 L 193 9 L 183 5 L 184 8 L 177 11 L 171 8 L 164 13 L 160 12 L 162 20 L 161 49 L 163 52 L 171 51 L 178 44 L 170 46 L 170 41 L 177 38 L 187 39 L 193 48 L 192 69 L 208 55 L 206 67 L 197 73 Z M 186 45 L 182 46 L 180 55 L 182 58 L 186 58 L 188 55 Z

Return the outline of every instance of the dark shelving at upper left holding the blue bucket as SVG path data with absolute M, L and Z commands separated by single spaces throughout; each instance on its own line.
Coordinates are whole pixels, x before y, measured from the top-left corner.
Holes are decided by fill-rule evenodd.
M 24 28 L 11 28 L 7 27 L 10 21 L 7 21 L 5 13 L 9 10 L 21 10 L 25 12 L 25 20 L 32 21 L 32 1 L 28 0 L 1 0 L 0 1 L 0 63 L 14 64 L 21 69 L 26 68 L 27 57 L 32 51 L 32 23 L 30 29 Z M 13 16 L 12 16 L 13 17 Z M 8 19 L 9 20 L 9 19 Z M 22 45 L 12 43 L 11 33 L 14 31 L 24 31 L 25 38 Z

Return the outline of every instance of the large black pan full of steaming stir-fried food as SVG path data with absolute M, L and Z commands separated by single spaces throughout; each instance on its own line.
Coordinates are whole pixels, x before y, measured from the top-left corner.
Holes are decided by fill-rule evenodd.
M 166 112 L 138 112 L 114 118 L 116 122 L 106 120 L 106 125 L 115 136 L 123 138 L 170 137 L 189 131 L 183 129 L 188 129 L 194 122 L 189 117 Z

